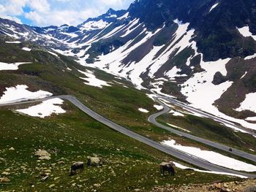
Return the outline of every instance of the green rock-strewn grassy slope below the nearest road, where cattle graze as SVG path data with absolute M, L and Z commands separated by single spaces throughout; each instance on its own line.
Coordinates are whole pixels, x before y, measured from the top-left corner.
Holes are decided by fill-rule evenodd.
M 168 183 L 233 180 L 179 169 L 176 177 L 162 177 L 159 163 L 177 160 L 102 126 L 69 103 L 64 109 L 66 114 L 45 119 L 0 109 L 0 176 L 10 179 L 0 183 L 0 191 L 150 191 Z M 51 154 L 50 161 L 38 161 L 34 152 L 39 149 Z M 83 173 L 69 176 L 72 162 L 93 155 L 103 158 L 104 166 L 86 166 Z M 41 181 L 45 173 L 50 177 Z

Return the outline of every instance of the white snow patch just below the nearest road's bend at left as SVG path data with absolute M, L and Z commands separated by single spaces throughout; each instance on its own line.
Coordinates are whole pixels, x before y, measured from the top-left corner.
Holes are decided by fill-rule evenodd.
M 63 102 L 64 102 L 63 100 L 58 98 L 49 99 L 47 101 L 42 101 L 42 104 L 37 104 L 27 109 L 16 110 L 16 111 L 32 117 L 46 118 L 53 114 L 58 115 L 61 113 L 65 113 L 66 111 L 59 106 L 60 104 L 63 104 Z

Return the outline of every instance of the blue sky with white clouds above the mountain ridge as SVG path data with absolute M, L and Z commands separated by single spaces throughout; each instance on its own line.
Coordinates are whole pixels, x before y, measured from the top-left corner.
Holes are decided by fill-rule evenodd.
M 76 26 L 109 8 L 127 9 L 134 0 L 0 0 L 0 18 L 31 26 Z

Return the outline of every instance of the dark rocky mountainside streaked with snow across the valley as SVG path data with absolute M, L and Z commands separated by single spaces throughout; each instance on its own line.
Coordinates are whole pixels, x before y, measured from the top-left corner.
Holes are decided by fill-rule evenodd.
M 1 19 L 0 33 L 256 128 L 255 10 L 253 0 L 137 0 L 76 27 Z

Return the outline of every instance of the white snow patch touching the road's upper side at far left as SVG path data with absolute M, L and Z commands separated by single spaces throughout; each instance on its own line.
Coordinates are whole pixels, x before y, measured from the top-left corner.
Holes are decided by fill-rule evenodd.
M 15 87 L 6 88 L 3 96 L 0 97 L 0 104 L 14 103 L 18 101 L 27 101 L 32 99 L 43 99 L 53 94 L 47 91 L 28 91 L 27 85 L 17 85 Z

